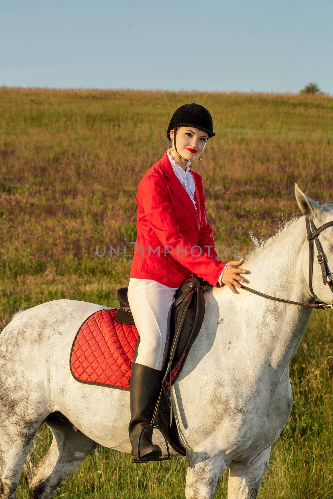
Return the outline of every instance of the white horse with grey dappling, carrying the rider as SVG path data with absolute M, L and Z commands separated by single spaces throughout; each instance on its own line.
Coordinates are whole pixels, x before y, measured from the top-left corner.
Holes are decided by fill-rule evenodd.
M 264 244 L 253 239 L 257 248 L 245 257 L 243 265 L 249 273 L 245 278 L 251 288 L 266 294 L 314 303 L 308 280 L 305 216 L 317 227 L 330 222 L 333 203 L 319 205 L 297 184 L 295 192 L 303 216 L 289 221 Z M 332 270 L 332 226 L 321 233 L 320 241 Z M 332 303 L 333 294 L 323 285 L 316 261 L 315 256 L 314 292 L 320 301 Z M 271 445 L 286 425 L 293 404 L 289 362 L 312 308 L 236 289 L 237 293 L 231 293 L 224 286 L 204 294 L 202 328 L 172 386 L 174 415 L 188 463 L 186 499 L 212 499 L 218 477 L 227 467 L 228 499 L 256 498 Z M 52 498 L 61 481 L 97 444 L 131 452 L 129 391 L 79 383 L 69 369 L 78 328 L 86 317 L 103 308 L 108 307 L 53 300 L 16 312 L 3 329 L 1 499 L 15 498 L 22 465 L 43 422 L 50 427 L 53 440 L 28 474 L 31 498 Z M 153 439 L 166 452 L 156 430 Z

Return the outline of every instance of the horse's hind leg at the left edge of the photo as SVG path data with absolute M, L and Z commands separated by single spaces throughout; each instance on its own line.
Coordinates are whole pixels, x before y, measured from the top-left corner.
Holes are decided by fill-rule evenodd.
M 16 488 L 33 437 L 42 420 L 22 422 L 22 413 L 0 421 L 0 499 L 15 499 Z

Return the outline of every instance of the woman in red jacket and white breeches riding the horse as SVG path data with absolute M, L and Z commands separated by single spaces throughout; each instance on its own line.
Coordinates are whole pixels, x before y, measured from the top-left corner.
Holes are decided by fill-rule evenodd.
M 152 419 L 161 388 L 161 371 L 169 344 L 175 292 L 191 276 L 215 287 L 241 287 L 243 260 L 217 259 L 213 231 L 206 220 L 202 178 L 191 161 L 214 137 L 210 112 L 199 104 L 184 104 L 173 114 L 167 137 L 171 147 L 144 174 L 138 185 L 137 233 L 130 270 L 128 301 L 140 335 L 130 382 L 131 420 L 128 431 L 132 462 L 136 462 L 142 427 Z M 152 443 L 152 429 L 142 433 L 140 457 L 157 460 L 161 448 Z

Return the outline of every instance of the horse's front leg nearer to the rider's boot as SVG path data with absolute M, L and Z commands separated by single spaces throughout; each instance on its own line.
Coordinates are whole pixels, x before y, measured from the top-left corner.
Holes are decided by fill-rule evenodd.
M 216 484 L 226 466 L 221 458 L 205 452 L 187 451 L 186 499 L 213 499 Z

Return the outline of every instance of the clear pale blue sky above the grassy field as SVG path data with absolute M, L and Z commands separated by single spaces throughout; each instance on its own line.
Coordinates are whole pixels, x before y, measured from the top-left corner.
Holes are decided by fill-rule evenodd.
M 333 1 L 3 1 L 0 85 L 333 94 Z

